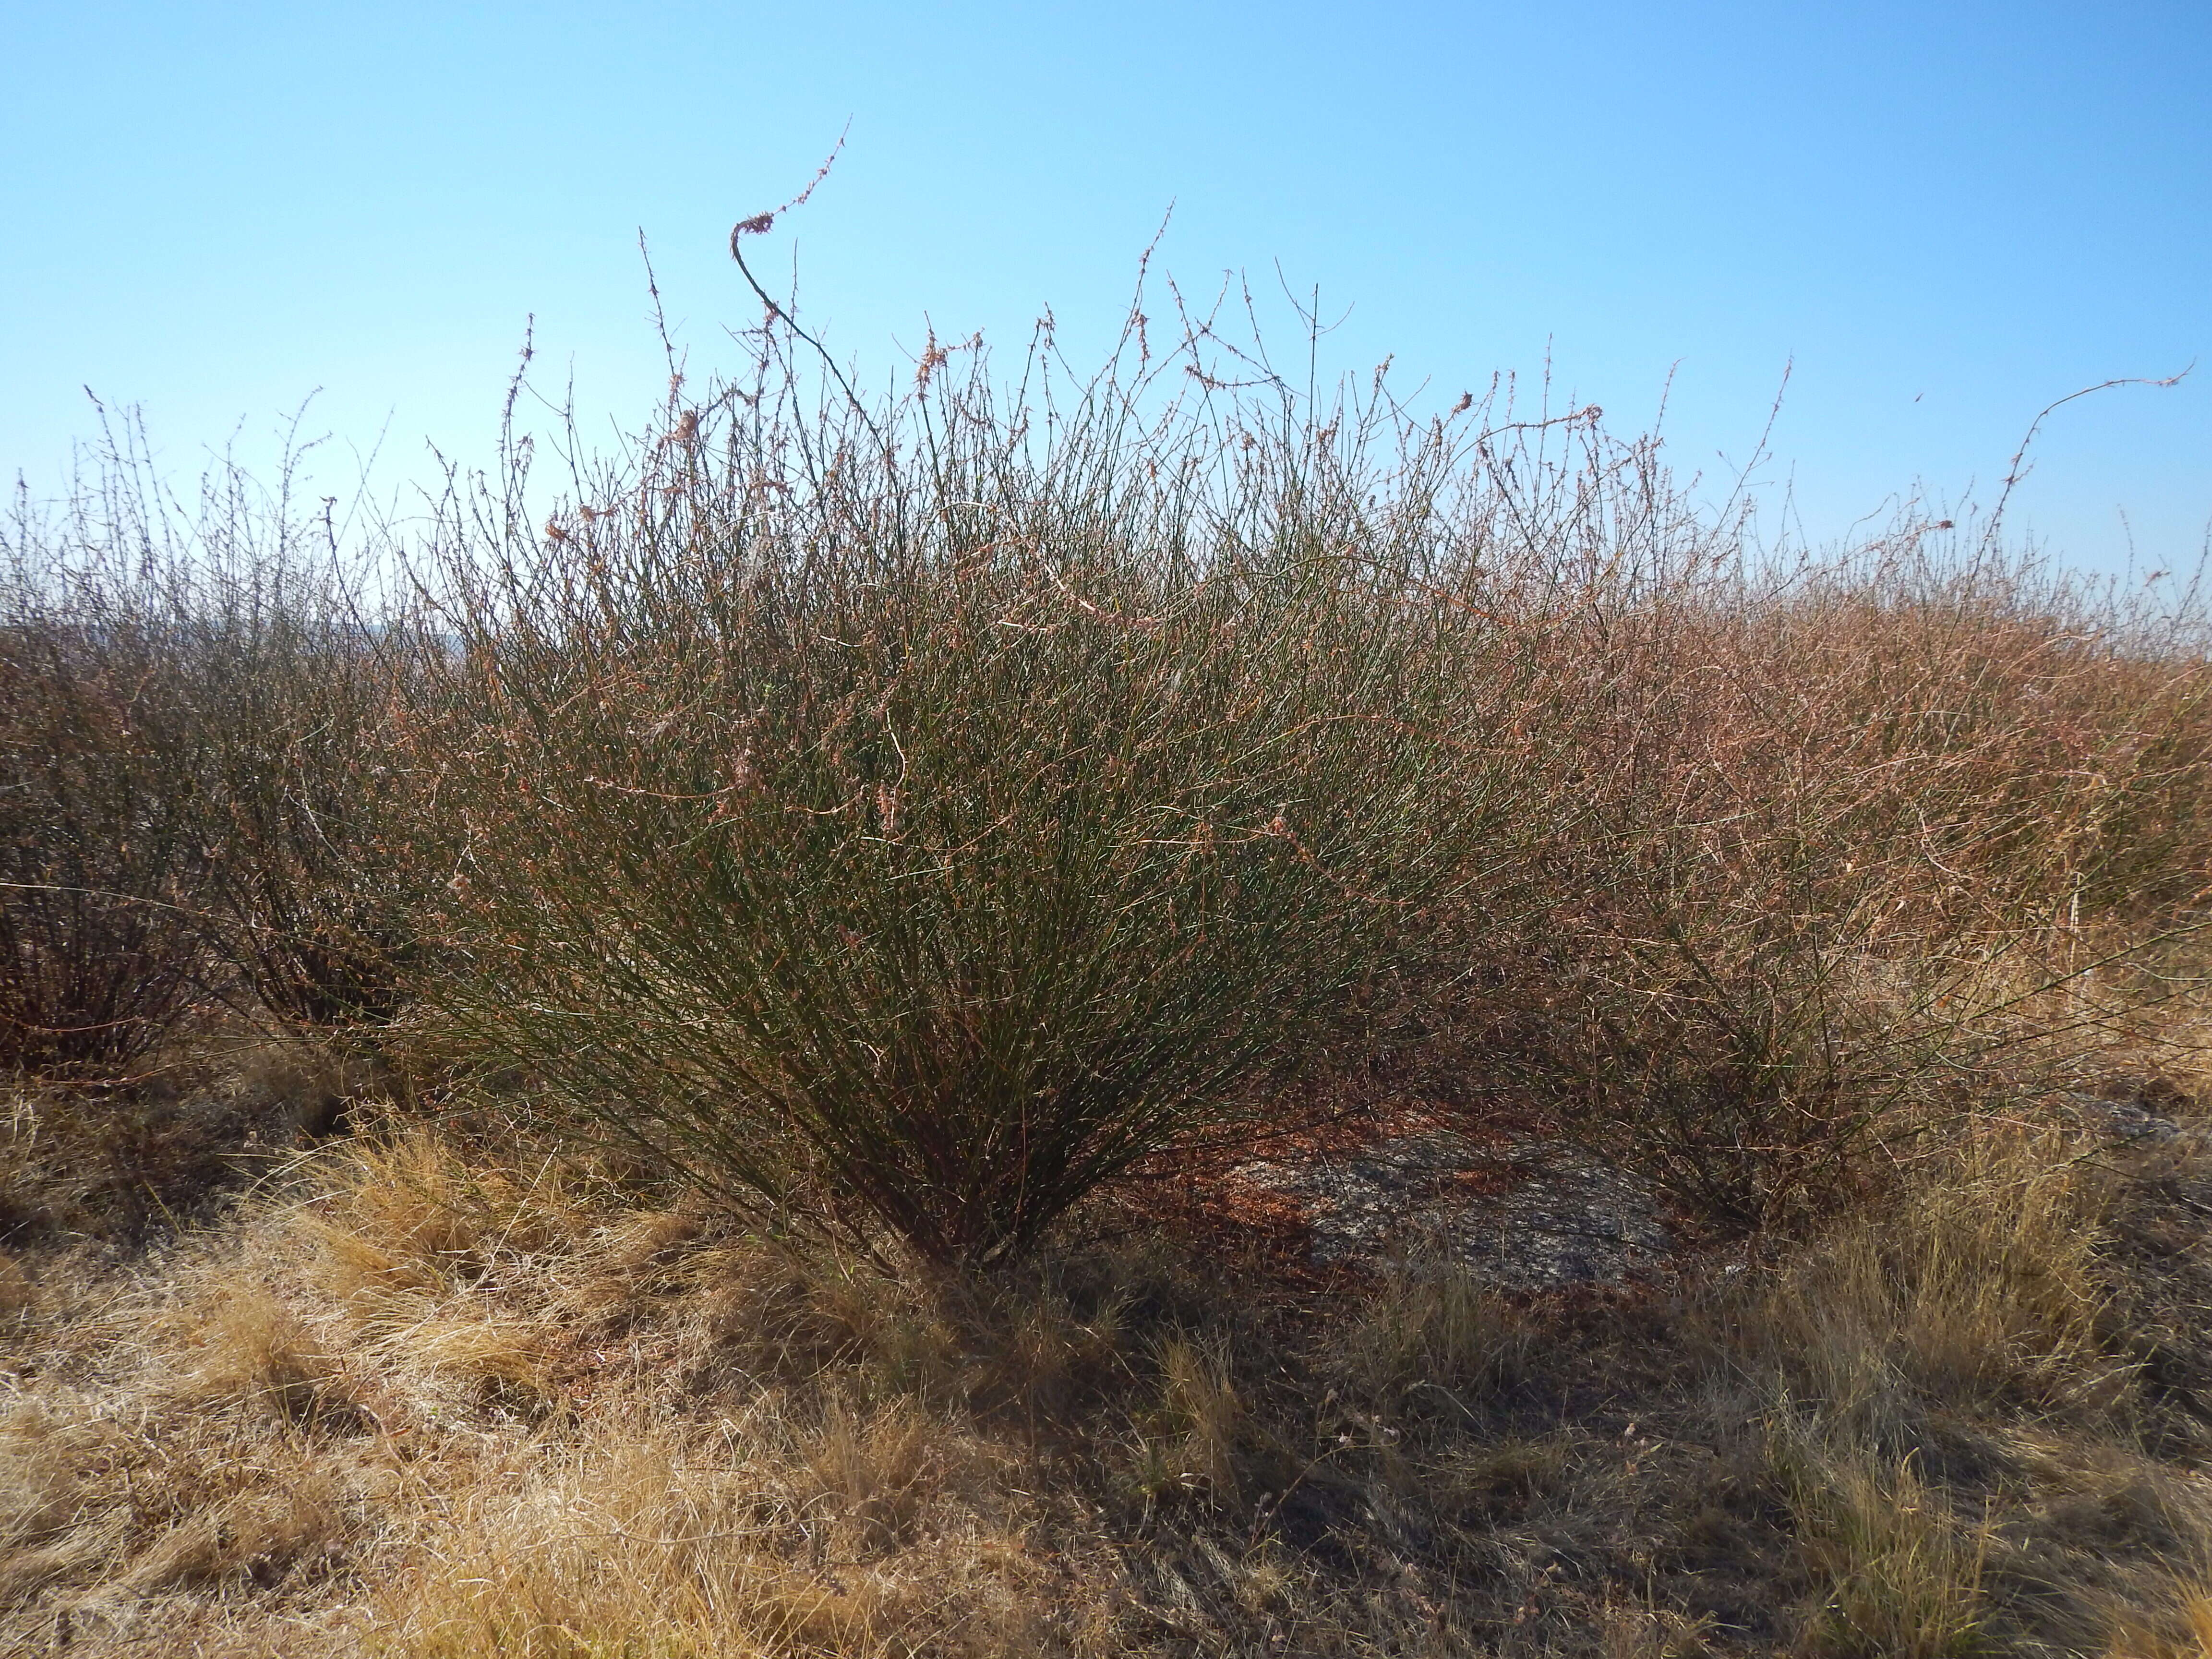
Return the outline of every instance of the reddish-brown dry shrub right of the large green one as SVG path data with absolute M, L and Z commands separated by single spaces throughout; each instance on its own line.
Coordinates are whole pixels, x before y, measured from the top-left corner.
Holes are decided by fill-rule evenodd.
M 2170 987 L 2112 964 L 2197 925 L 2197 622 L 1940 542 L 1553 624 L 1553 905 L 1495 1042 L 1721 1228 L 2121 1040 Z

